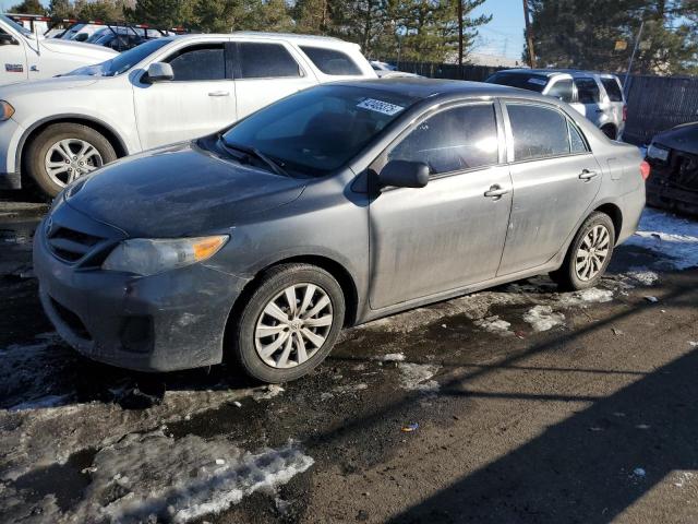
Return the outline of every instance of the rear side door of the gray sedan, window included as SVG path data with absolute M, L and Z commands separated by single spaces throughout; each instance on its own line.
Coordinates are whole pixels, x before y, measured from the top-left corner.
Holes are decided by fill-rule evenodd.
M 514 200 L 498 276 L 552 259 L 588 213 L 602 178 L 581 131 L 556 107 L 514 100 L 504 107 Z

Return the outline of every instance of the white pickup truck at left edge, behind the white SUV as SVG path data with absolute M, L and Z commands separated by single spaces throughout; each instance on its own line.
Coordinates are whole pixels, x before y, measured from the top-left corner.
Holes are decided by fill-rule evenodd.
M 0 85 L 49 79 L 116 55 L 106 47 L 44 38 L 0 15 Z

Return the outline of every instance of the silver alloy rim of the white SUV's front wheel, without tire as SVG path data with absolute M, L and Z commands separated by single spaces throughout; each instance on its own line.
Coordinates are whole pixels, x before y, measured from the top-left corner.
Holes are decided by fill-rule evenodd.
M 58 186 L 68 186 L 103 165 L 104 160 L 97 148 L 81 139 L 56 142 L 46 152 L 44 160 L 46 172 Z

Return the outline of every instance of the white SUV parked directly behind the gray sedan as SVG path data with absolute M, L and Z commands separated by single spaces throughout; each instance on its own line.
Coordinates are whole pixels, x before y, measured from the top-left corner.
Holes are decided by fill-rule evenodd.
M 117 157 L 203 136 L 318 83 L 361 78 L 376 74 L 359 46 L 336 38 L 151 40 L 70 75 L 0 88 L 0 187 L 29 176 L 55 195 Z

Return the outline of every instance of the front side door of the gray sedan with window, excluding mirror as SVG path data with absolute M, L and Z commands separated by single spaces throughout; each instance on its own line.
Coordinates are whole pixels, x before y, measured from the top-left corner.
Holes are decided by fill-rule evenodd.
M 495 106 L 468 104 L 418 122 L 381 162 L 424 162 L 421 189 L 385 188 L 370 204 L 373 309 L 495 276 L 512 205 Z

